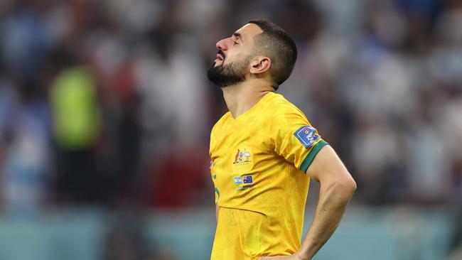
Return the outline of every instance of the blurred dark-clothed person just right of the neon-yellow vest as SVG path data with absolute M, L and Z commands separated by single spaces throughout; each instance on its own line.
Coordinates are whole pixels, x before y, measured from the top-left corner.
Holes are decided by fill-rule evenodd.
M 139 97 L 134 88 L 134 75 L 131 65 L 121 65 L 114 75 L 106 78 L 105 85 L 114 94 L 114 101 L 103 102 L 104 144 L 99 148 L 100 171 L 106 176 L 107 202 L 136 203 L 139 197 L 141 123 L 139 119 Z M 106 93 L 104 94 L 107 96 Z M 107 150 L 107 151 L 102 151 Z M 106 153 L 106 154 L 104 154 Z M 141 183 L 140 183 L 141 182 Z

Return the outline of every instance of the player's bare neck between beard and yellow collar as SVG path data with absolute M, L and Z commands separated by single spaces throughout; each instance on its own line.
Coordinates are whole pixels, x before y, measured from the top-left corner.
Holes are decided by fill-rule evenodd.
M 262 97 L 274 89 L 264 82 L 246 80 L 238 85 L 223 87 L 223 97 L 232 117 L 237 118 L 254 107 Z

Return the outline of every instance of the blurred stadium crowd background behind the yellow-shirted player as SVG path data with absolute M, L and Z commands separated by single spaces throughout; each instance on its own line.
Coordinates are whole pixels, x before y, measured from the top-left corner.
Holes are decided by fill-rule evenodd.
M 358 183 L 315 259 L 462 259 L 462 1 L 1 0 L 0 260 L 209 259 L 206 70 L 258 18 Z

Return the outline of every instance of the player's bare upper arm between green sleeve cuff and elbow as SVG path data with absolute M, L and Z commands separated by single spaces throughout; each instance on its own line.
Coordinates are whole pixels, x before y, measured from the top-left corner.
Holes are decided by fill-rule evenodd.
M 343 179 L 353 180 L 337 153 L 329 145 L 323 146 L 316 154 L 306 174 L 320 183 Z

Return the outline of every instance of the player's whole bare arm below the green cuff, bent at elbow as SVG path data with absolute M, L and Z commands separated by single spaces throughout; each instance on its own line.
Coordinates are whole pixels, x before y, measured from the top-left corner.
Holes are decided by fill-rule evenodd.
M 355 180 L 331 146 L 324 146 L 306 173 L 321 183 L 318 206 L 298 251 L 299 259 L 311 259 L 338 227 L 356 190 Z

